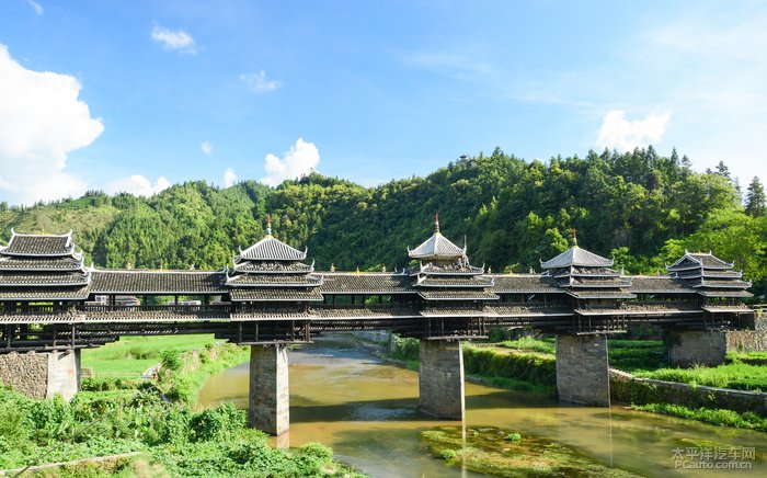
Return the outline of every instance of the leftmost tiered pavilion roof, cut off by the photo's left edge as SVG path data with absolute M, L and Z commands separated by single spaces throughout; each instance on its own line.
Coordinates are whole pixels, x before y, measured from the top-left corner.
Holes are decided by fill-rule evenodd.
M 0 247 L 0 299 L 81 300 L 88 297 L 91 272 L 75 251 L 72 231 L 18 234 Z

